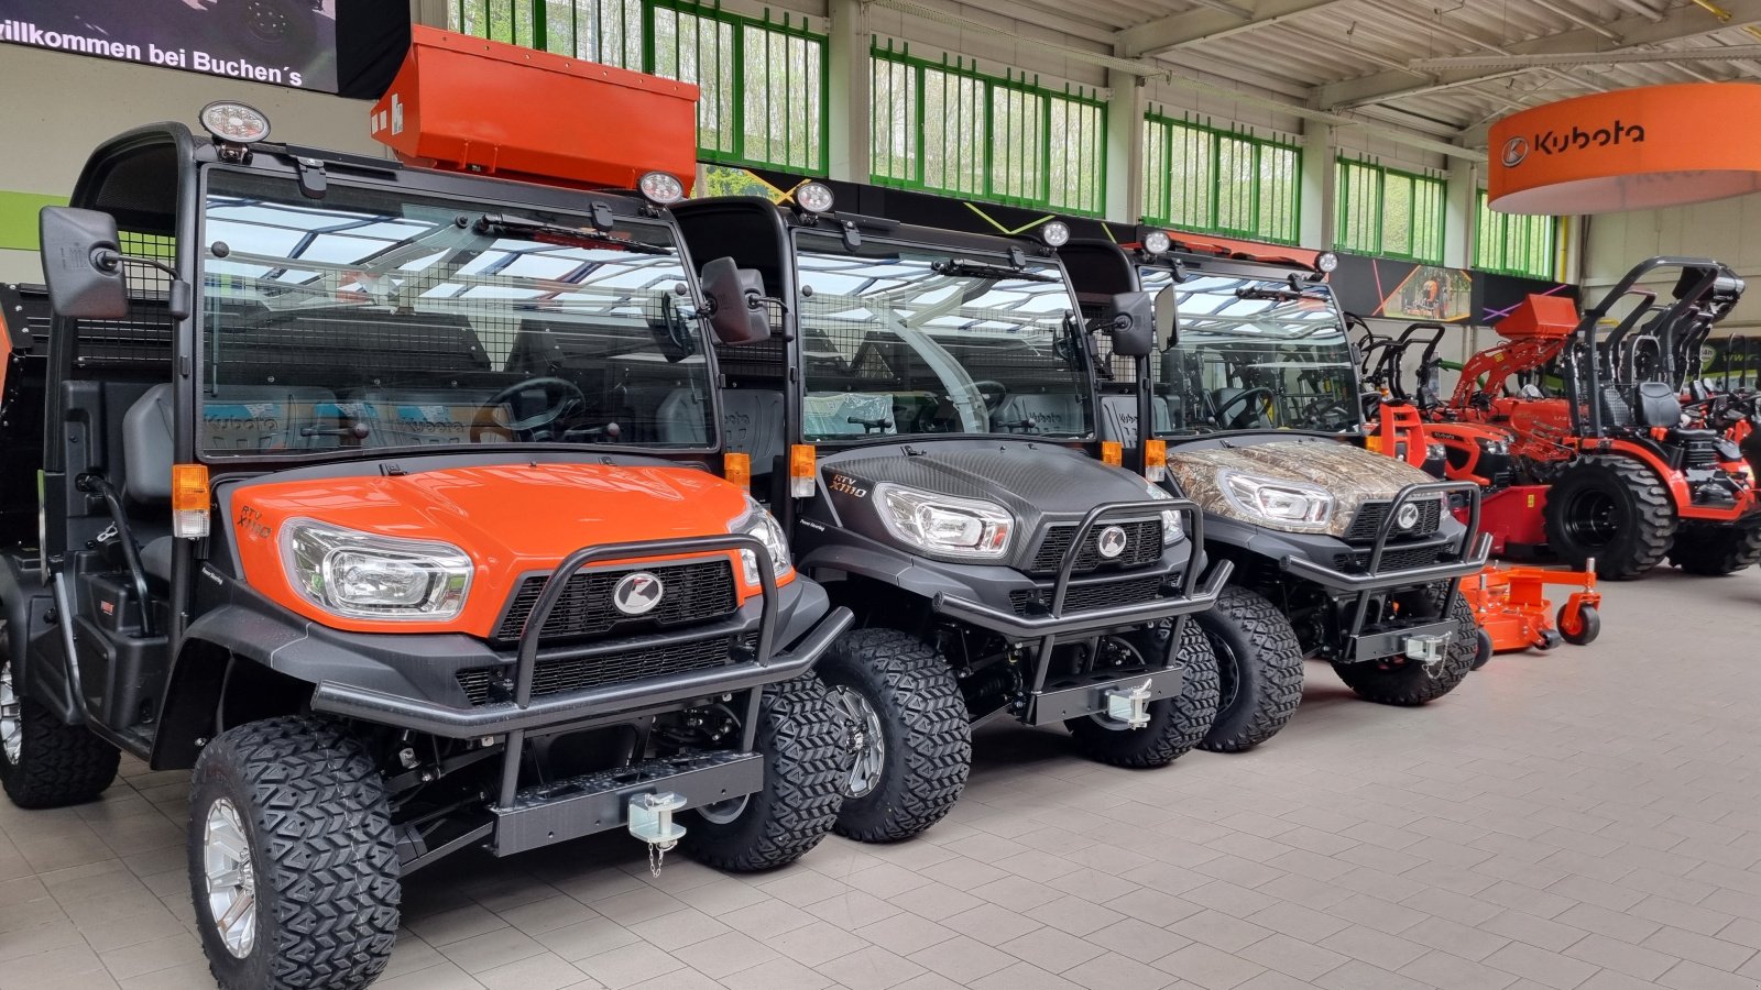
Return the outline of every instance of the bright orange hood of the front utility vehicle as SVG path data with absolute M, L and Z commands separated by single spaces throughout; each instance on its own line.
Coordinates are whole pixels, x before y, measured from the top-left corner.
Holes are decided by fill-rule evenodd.
M 502 463 L 247 484 L 232 497 L 229 525 L 245 580 L 306 618 L 356 632 L 488 636 L 525 574 L 551 571 L 583 546 L 726 534 L 745 511 L 738 488 L 696 469 Z M 458 546 L 475 565 L 465 610 L 447 622 L 384 622 L 317 608 L 282 562 L 282 527 L 296 518 Z

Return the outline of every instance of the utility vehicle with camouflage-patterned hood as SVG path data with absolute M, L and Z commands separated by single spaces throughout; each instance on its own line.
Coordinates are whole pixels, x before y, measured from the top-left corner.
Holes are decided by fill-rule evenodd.
M 1370 701 L 1453 691 L 1479 650 L 1458 592 L 1486 562 L 1479 488 L 1361 447 L 1363 386 L 1319 270 L 1185 250 L 1162 231 L 1141 241 L 1162 250 L 1060 254 L 1085 299 L 1143 289 L 1164 326 L 1178 321 L 1153 359 L 1115 361 L 1104 426 L 1138 447 L 1150 423 L 1169 481 L 1205 507 L 1206 553 L 1234 564 L 1217 606 L 1233 622 L 1206 627 L 1224 685 L 1213 742 L 1252 745 L 1268 712 L 1294 706 L 1287 657 L 1331 662 Z

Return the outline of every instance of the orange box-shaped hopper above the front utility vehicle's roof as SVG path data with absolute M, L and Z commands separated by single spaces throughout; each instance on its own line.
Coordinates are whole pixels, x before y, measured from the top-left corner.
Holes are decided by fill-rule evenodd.
M 689 194 L 697 86 L 414 25 L 372 136 L 412 166 L 574 188 L 669 173 Z

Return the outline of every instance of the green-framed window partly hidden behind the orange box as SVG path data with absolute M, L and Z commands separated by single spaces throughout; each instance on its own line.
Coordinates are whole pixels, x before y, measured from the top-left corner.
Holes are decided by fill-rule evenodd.
M 826 173 L 826 39 L 685 0 L 447 0 L 453 30 L 696 83 L 697 157 Z

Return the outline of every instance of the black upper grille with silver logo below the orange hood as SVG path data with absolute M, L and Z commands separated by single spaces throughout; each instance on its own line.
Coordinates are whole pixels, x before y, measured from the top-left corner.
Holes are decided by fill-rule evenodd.
M 611 590 L 632 571 L 648 571 L 664 587 L 660 604 L 646 615 L 629 617 L 611 606 Z M 519 639 L 532 608 L 544 590 L 546 574 L 534 574 L 519 583 L 507 615 L 495 627 L 495 639 Z M 722 618 L 738 608 L 734 599 L 734 571 L 726 558 L 690 564 L 653 564 L 648 567 L 620 567 L 616 571 L 579 571 L 569 578 L 569 587 L 556 599 L 556 608 L 544 620 L 541 643 L 579 639 L 606 632 L 634 629 L 667 629 L 694 622 Z

